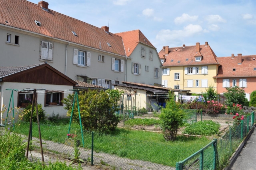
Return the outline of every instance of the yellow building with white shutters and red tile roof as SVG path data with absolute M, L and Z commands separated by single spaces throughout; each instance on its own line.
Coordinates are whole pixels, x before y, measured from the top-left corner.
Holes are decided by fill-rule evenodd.
M 219 63 L 208 42 L 175 48 L 164 46 L 158 54 L 164 66 L 164 87 L 200 94 L 212 84 L 217 91 L 216 78 L 213 77 L 217 75 Z

